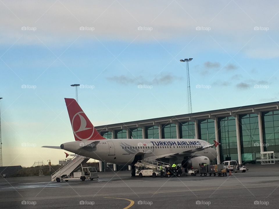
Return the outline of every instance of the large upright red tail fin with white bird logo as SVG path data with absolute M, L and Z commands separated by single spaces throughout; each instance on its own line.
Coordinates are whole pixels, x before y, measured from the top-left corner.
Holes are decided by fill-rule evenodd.
M 65 102 L 76 141 L 105 139 L 97 132 L 76 100 L 65 98 Z

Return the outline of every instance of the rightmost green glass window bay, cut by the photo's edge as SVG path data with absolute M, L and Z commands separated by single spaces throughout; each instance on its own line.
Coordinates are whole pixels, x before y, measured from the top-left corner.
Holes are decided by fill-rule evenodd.
M 279 111 L 262 113 L 264 151 L 279 152 Z

